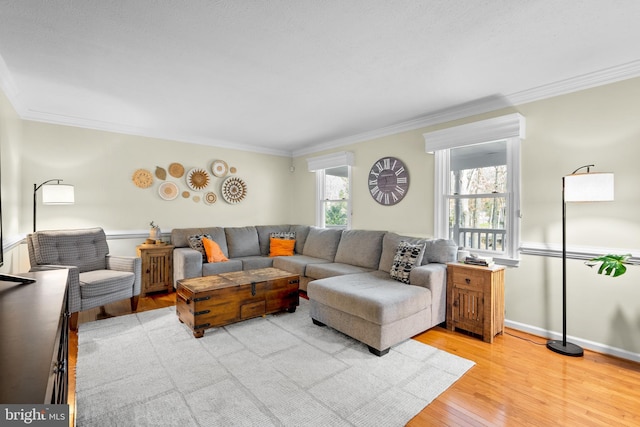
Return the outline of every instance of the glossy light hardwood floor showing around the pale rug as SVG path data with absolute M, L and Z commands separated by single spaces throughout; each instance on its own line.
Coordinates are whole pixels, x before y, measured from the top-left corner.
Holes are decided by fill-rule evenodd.
M 128 300 L 107 313 L 130 314 Z M 138 311 L 175 304 L 175 293 L 141 297 Z M 99 310 L 80 314 L 95 320 Z M 493 344 L 436 327 L 418 341 L 473 360 L 476 365 L 429 406 L 410 427 L 422 426 L 640 426 L 640 364 L 585 351 L 553 353 L 546 340 L 507 329 Z M 70 339 L 69 403 L 75 415 L 78 338 Z

